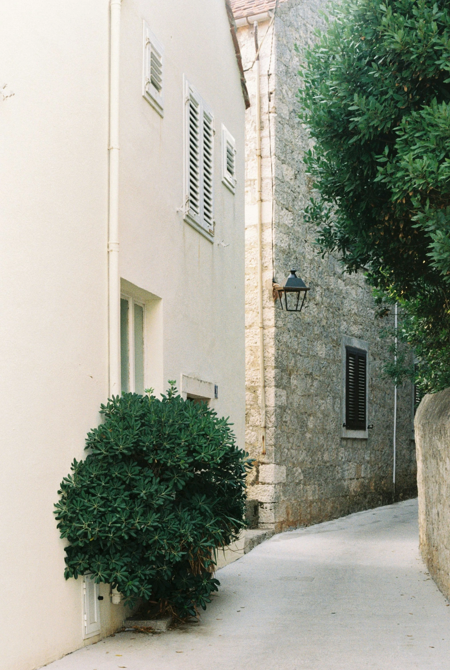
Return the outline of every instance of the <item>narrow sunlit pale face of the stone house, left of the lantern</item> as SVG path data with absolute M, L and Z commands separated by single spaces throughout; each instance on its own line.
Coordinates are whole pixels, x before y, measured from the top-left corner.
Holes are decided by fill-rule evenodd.
M 269 30 L 269 32 L 267 32 Z M 275 137 L 275 43 L 273 43 L 273 29 L 269 21 L 258 26 L 260 50 L 260 100 L 261 100 L 261 147 L 262 147 L 262 239 L 263 239 L 263 276 L 265 285 L 272 283 L 272 183 L 275 177 L 275 160 L 271 159 L 271 142 L 274 145 Z M 238 39 L 242 52 L 244 69 L 250 68 L 254 62 L 254 32 L 253 27 L 243 27 L 238 30 Z M 268 76 L 268 72 L 270 76 Z M 266 446 L 267 456 L 261 452 L 260 435 L 260 378 L 259 378 L 259 328 L 258 328 L 258 235 L 257 235 L 257 206 L 256 206 L 256 105 L 254 69 L 246 72 L 246 82 L 250 95 L 250 109 L 246 113 L 246 210 L 245 210 L 245 281 L 246 281 L 246 450 L 256 459 L 256 467 L 248 477 L 248 484 L 264 482 L 259 476 L 259 464 L 274 463 L 274 435 L 275 435 L 275 312 L 269 289 L 263 293 L 264 325 L 265 325 L 265 385 L 266 385 Z M 269 100 L 271 92 L 271 100 Z M 269 133 L 269 105 L 270 133 Z M 262 471 L 261 471 L 262 474 Z M 261 488 L 261 486 L 263 488 Z M 260 484 L 258 491 L 249 489 L 249 496 L 260 500 L 260 524 L 272 523 L 273 518 L 273 485 L 269 488 Z M 269 516 L 267 516 L 267 514 Z

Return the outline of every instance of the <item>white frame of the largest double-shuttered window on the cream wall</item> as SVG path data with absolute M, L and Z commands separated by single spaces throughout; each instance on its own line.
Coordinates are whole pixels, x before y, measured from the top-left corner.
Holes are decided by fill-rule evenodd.
M 184 208 L 183 208 L 183 218 L 185 222 L 189 223 L 193 228 L 198 230 L 206 239 L 214 243 L 214 176 L 215 176 L 215 165 L 214 165 L 214 135 L 216 134 L 214 128 L 214 113 L 209 105 L 206 103 L 204 98 L 196 90 L 190 82 L 183 77 L 183 92 L 184 92 L 184 118 L 183 118 L 183 133 L 184 133 Z M 199 206 L 198 214 L 190 206 L 190 185 L 191 185 L 191 142 L 190 142 L 190 103 L 196 103 L 198 107 L 198 118 L 199 118 L 199 130 L 198 130 L 198 143 L 199 143 L 199 157 L 198 157 L 198 191 L 199 191 Z M 211 168 L 212 168 L 212 179 L 211 179 L 211 222 L 208 223 L 205 219 L 205 186 L 204 186 L 204 168 L 205 168 L 205 153 L 204 153 L 204 119 L 205 115 L 210 117 L 212 125 L 212 138 L 211 138 Z

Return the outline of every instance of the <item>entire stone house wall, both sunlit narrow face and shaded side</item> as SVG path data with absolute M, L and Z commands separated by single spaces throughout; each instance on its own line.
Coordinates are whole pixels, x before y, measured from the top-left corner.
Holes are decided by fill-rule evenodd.
M 332 255 L 321 259 L 314 245 L 317 231 L 302 215 L 311 197 L 303 163 L 311 140 L 297 116 L 300 56 L 294 45 L 312 42 L 324 7 L 317 0 L 279 5 L 275 29 L 269 28 L 260 50 L 265 456 L 259 404 L 255 80 L 254 70 L 246 72 L 252 102 L 246 118 L 246 449 L 257 460 L 248 484 L 250 498 L 260 502 L 260 527 L 277 531 L 383 505 L 393 496 L 394 389 L 382 379 L 392 354 L 390 342 L 380 339 L 380 327 L 392 326 L 393 318 L 376 320 L 362 273 L 343 273 Z M 269 22 L 259 24 L 259 42 L 268 27 Z M 253 27 L 240 28 L 238 37 L 244 68 L 249 68 Z M 301 314 L 281 312 L 272 298 L 272 277 L 283 283 L 291 267 L 311 287 Z M 369 343 L 368 423 L 374 429 L 366 440 L 342 438 L 343 336 Z M 398 389 L 396 499 L 417 490 L 412 419 L 407 383 Z

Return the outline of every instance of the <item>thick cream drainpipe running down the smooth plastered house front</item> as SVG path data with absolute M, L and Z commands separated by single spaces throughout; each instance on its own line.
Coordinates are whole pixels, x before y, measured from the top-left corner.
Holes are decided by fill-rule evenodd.
M 121 277 L 119 273 L 119 55 L 121 0 L 110 0 L 108 317 L 109 397 L 121 393 Z

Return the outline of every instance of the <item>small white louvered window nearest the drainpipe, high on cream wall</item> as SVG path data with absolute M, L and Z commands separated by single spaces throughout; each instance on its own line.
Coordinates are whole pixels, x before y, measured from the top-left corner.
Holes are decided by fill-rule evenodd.
M 164 48 L 144 21 L 142 94 L 163 116 Z

